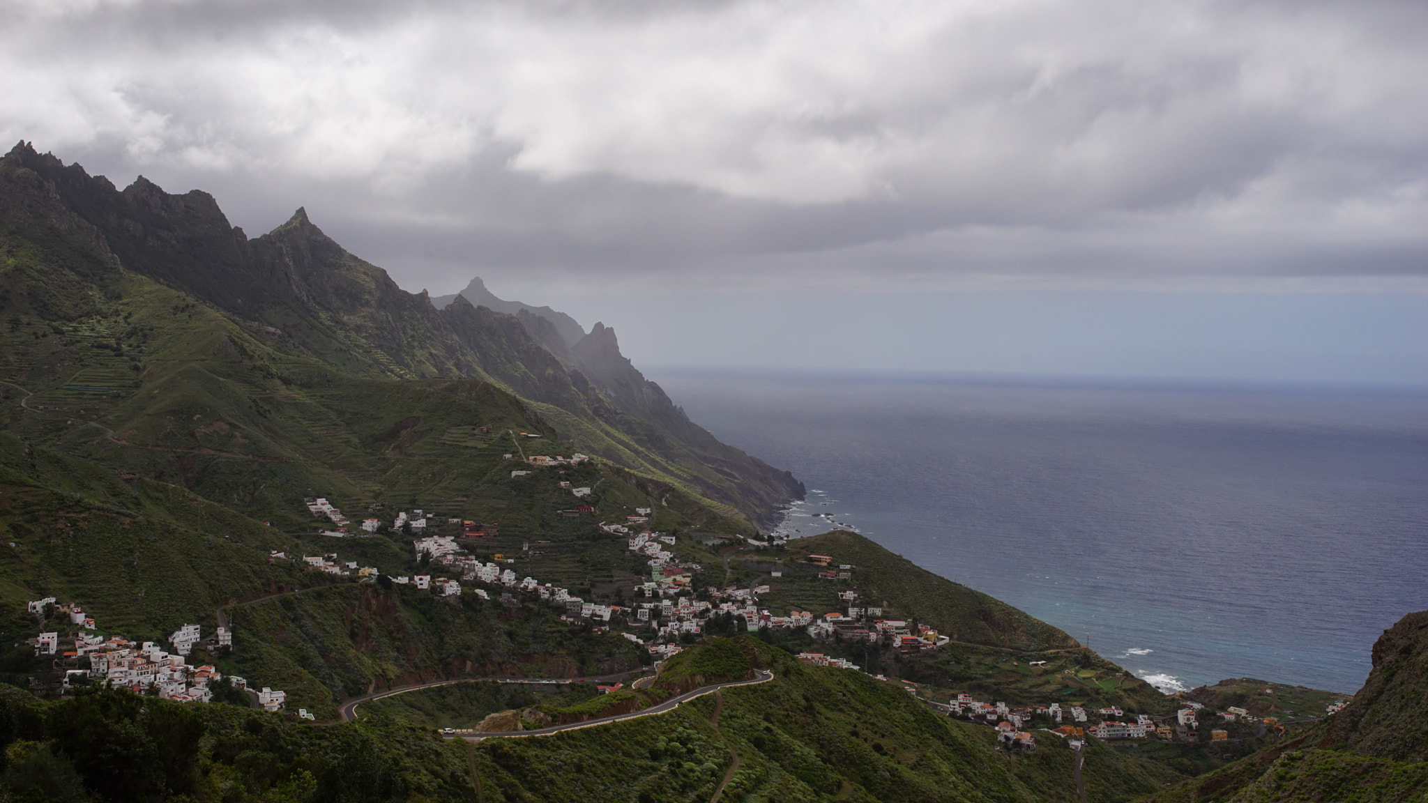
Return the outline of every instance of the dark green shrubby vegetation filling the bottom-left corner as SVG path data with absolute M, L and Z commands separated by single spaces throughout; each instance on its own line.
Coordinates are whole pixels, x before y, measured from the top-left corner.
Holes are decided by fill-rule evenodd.
M 129 692 L 40 703 L 0 687 L 14 800 L 476 800 L 466 744 L 390 722 L 333 727 Z

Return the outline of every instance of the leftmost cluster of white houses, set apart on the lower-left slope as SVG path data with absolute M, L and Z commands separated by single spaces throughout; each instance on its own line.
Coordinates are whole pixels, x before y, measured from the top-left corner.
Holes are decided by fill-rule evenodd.
M 59 656 L 64 662 L 63 683 L 66 687 L 76 676 L 84 676 L 91 682 L 107 683 L 116 689 L 130 689 L 140 693 L 153 689 L 167 700 L 207 703 L 213 699 L 208 683 L 223 679 L 214 666 L 190 666 L 187 662 L 193 647 L 204 640 L 203 630 L 197 624 L 184 624 L 169 636 L 173 646 L 170 653 L 154 642 L 140 644 L 129 642 L 123 636 L 104 637 L 93 633 L 96 627 L 91 617 L 84 616 L 84 612 L 76 604 L 56 604 L 54 597 L 34 600 L 27 606 L 27 610 L 43 617 L 46 613 L 51 613 L 47 612 L 49 606 L 53 606 L 53 613 L 66 614 L 70 623 L 83 627 L 83 630 L 63 639 L 54 632 L 40 633 L 39 637 L 30 640 L 34 646 L 34 654 Z M 84 630 L 91 632 L 86 633 Z M 218 627 L 207 640 L 214 649 L 233 649 L 233 632 L 227 627 Z M 73 650 L 60 649 L 71 644 Z M 89 662 L 89 669 L 80 669 L 83 660 Z M 238 689 L 247 689 L 247 682 L 241 677 L 230 676 L 228 682 Z M 257 696 L 258 703 L 271 712 L 281 709 L 286 700 L 283 692 L 271 689 L 264 689 Z

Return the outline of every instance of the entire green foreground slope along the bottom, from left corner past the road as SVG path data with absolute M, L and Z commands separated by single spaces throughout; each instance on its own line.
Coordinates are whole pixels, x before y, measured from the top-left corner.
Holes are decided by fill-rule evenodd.
M 701 652 L 710 654 L 701 656 Z M 181 706 L 127 692 L 41 702 L 0 686 L 0 793 L 20 800 L 1074 800 L 1071 752 L 995 747 L 991 729 L 950 720 L 897 684 L 814 667 L 751 639 L 708 640 L 693 664 L 731 654 L 775 680 L 705 696 L 673 713 L 474 746 L 394 722 L 314 726 L 223 703 Z M 491 690 L 476 697 L 497 699 Z M 506 699 L 510 699 L 506 694 Z M 520 702 L 518 704 L 523 704 Z M 1092 746 L 1084 780 L 1125 800 L 1165 770 Z

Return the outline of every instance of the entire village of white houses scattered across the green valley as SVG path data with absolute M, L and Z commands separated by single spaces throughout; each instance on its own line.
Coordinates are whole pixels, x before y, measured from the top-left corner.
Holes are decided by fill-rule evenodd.
M 511 456 L 507 454 L 506 459 L 511 459 Z M 588 457 L 583 454 L 575 454 L 568 460 L 561 456 L 523 459 L 530 469 L 578 464 L 585 460 Z M 520 469 L 511 474 L 513 477 L 526 476 L 530 474 L 530 470 Z M 568 492 L 577 503 L 584 503 L 591 496 L 590 487 L 573 487 L 567 482 L 560 482 L 558 486 Z M 321 532 L 326 536 L 370 537 L 383 529 L 378 519 L 368 517 L 356 527 L 357 533 L 353 533 L 354 527 L 347 516 L 327 499 L 308 497 L 304 499 L 304 504 L 314 517 L 330 523 L 333 529 Z M 561 510 L 563 514 L 575 516 L 593 512 L 591 504 L 575 504 Z M 843 609 L 821 614 L 798 609 L 774 613 L 768 607 L 761 607 L 758 597 L 770 593 L 767 584 L 694 589 L 694 577 L 701 572 L 701 566 L 681 559 L 674 552 L 673 547 L 678 542 L 674 534 L 647 527 L 654 517 L 653 513 L 650 507 L 637 507 L 623 522 L 598 522 L 595 524 L 601 533 L 624 539 L 625 550 L 648 567 L 648 580 L 633 587 L 635 600 L 621 600 L 618 604 L 587 602 L 573 594 L 570 589 L 543 583 L 528 574 L 521 577 L 511 566 L 516 560 L 504 554 L 493 554 L 488 560 L 468 554 L 467 546 L 494 546 L 500 526 L 456 517 L 434 517 L 420 507 L 413 507 L 410 513 L 398 512 L 387 526 L 393 532 L 413 537 L 410 542 L 411 559 L 418 567 L 417 572 L 384 574 L 377 567 L 360 566 L 354 560 L 341 560 L 336 552 L 288 557 L 284 552 L 273 550 L 268 560 L 297 560 L 311 572 L 348 577 L 358 583 L 378 583 L 384 587 L 411 587 L 438 597 L 460 597 L 468 593 L 481 600 L 493 600 L 494 597 L 507 604 L 518 602 L 548 603 L 563 609 L 560 616 L 563 620 L 570 623 L 588 622 L 594 633 L 608 633 L 611 627 L 615 627 L 617 634 L 648 652 L 655 669 L 663 660 L 677 654 L 684 646 L 711 630 L 718 633 L 760 629 L 801 630 L 815 642 L 891 646 L 904 654 L 937 650 L 950 642 L 935 629 L 905 619 L 884 617 L 884 610 L 880 606 L 858 604 L 860 592 L 857 589 L 841 587 L 835 590 Z M 458 543 L 457 536 L 426 534 L 428 529 L 438 526 L 460 527 L 460 540 L 464 544 Z M 717 539 L 710 543 L 717 543 Z M 744 539 L 744 542 L 753 546 L 767 546 L 764 542 L 750 539 Z M 521 549 L 523 552 L 528 550 L 530 544 L 523 544 Z M 847 582 L 855 573 L 854 566 L 837 563 L 833 556 L 808 554 L 805 560 L 811 567 L 818 569 L 815 576 L 820 582 Z M 426 567 L 430 569 L 420 570 Z M 781 574 L 780 570 L 770 572 L 770 576 L 775 579 Z M 64 670 L 63 686 L 66 689 L 77 682 L 103 683 L 131 689 L 137 693 L 153 692 L 160 697 L 178 702 L 207 703 L 213 699 L 213 684 L 226 683 L 246 693 L 256 706 L 264 710 L 280 712 L 286 709 L 287 696 L 281 690 L 250 689 L 243 677 L 224 677 L 216 666 L 191 666 L 188 663 L 188 656 L 196 646 L 203 646 L 208 654 L 214 656 L 231 653 L 233 632 L 228 627 L 220 626 L 204 637 L 198 624 L 184 624 L 169 637 L 170 647 L 166 650 L 154 642 L 134 643 L 121 636 L 104 637 L 97 632 L 94 619 L 87 616 L 79 604 L 57 604 L 54 597 L 31 602 L 29 612 L 40 622 L 63 616 L 74 626 L 74 630 L 64 636 L 60 632 L 49 632 L 30 640 L 37 656 L 56 656 L 56 667 Z M 797 657 L 815 666 L 861 672 L 858 664 L 847 659 L 820 652 L 803 652 Z M 1031 662 L 1031 664 L 1045 664 L 1045 662 Z M 883 682 L 902 683 L 907 692 L 948 716 L 964 716 L 995 729 L 998 742 L 1008 749 L 1034 750 L 1037 744 L 1034 730 L 1067 739 L 1074 749 L 1084 746 L 1087 737 L 1100 740 L 1155 737 L 1181 743 L 1197 743 L 1202 737 L 1208 737 L 1208 742 L 1224 742 L 1231 739 L 1231 727 L 1235 724 L 1240 729 L 1254 726 L 1255 733 L 1261 736 L 1267 732 L 1284 732 L 1284 726 L 1275 717 L 1255 717 L 1242 707 L 1204 712 L 1200 703 L 1191 700 L 1180 700 L 1180 709 L 1172 716 L 1134 714 L 1134 719 L 1130 719 L 1114 706 L 1091 709 L 1071 704 L 1062 707 L 1061 703 L 1052 702 L 1044 706 L 1011 707 L 1007 703 L 977 700 L 965 693 L 958 693 L 954 699 L 942 703 L 920 693 L 915 683 L 888 679 L 883 674 L 871 676 Z M 601 687 L 601 692 L 613 689 L 617 687 Z M 1328 713 L 1334 713 L 1342 704 L 1329 706 Z M 301 709 L 298 716 L 313 719 L 311 713 Z M 1211 722 L 1215 727 L 1204 733 L 1200 727 L 1201 719 Z

